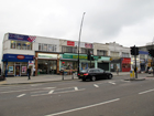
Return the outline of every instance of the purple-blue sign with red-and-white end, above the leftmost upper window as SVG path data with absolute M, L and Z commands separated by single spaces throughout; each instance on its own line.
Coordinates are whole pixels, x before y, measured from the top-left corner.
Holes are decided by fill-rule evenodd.
M 12 34 L 12 33 L 9 33 L 9 40 L 35 42 L 35 39 L 36 39 L 36 36 L 30 36 L 30 35 L 21 35 L 21 34 Z

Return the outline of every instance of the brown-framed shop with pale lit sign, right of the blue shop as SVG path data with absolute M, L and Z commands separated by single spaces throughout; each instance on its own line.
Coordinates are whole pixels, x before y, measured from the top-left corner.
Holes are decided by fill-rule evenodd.
M 37 74 L 58 74 L 59 73 L 59 57 L 55 53 L 35 53 L 35 70 Z

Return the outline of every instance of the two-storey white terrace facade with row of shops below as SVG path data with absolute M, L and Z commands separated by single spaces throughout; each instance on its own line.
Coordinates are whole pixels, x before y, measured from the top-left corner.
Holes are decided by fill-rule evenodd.
M 78 46 L 79 45 L 79 46 Z M 117 43 L 88 43 L 6 33 L 2 48 L 2 72 L 7 76 L 26 75 L 28 66 L 38 74 L 59 74 L 62 70 L 70 74 L 77 72 L 79 51 L 79 70 L 100 67 L 106 71 L 130 71 L 130 49 Z M 94 60 L 87 59 L 90 51 Z M 32 72 L 33 74 L 33 72 Z

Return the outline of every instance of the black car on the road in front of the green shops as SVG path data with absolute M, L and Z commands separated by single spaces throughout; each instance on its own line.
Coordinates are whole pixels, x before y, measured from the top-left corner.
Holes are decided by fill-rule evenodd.
M 101 68 L 88 68 L 88 70 L 82 70 L 78 73 L 78 78 L 86 81 L 97 81 L 97 80 L 102 80 L 102 78 L 108 78 L 111 80 L 113 75 L 110 72 L 106 72 L 105 70 Z

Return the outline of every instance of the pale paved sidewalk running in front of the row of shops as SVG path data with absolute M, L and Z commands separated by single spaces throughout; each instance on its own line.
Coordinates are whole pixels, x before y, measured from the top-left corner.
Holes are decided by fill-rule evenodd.
M 117 76 L 117 73 L 111 72 L 113 77 Z M 130 72 L 120 72 L 119 75 L 129 75 Z M 62 75 L 38 75 L 31 76 L 31 80 L 28 80 L 28 76 L 18 76 L 18 77 L 7 77 L 6 81 L 1 81 L 0 85 L 14 85 L 14 84 L 35 84 L 35 83 L 47 83 L 47 82 L 58 82 L 58 81 L 73 81 L 78 80 L 77 75 L 65 75 L 64 78 Z

